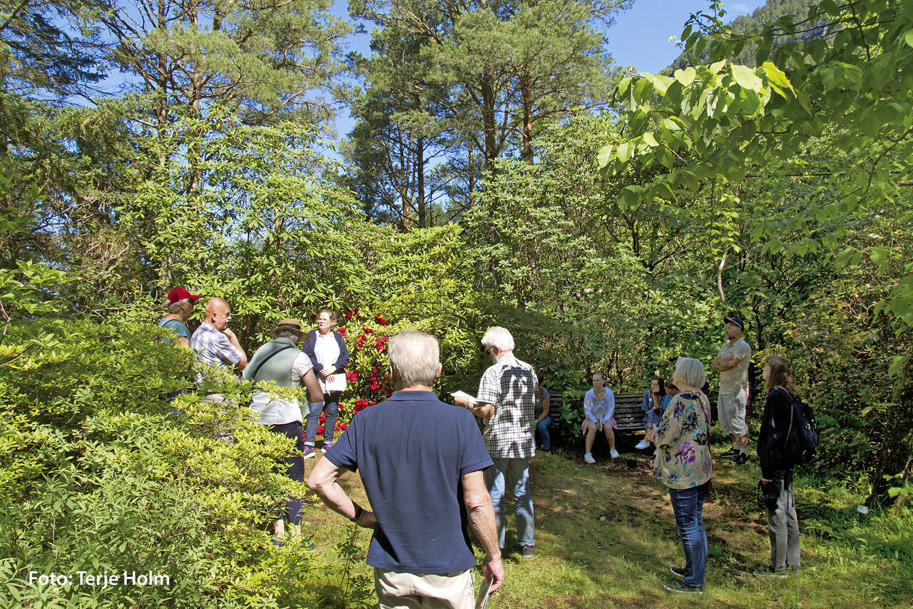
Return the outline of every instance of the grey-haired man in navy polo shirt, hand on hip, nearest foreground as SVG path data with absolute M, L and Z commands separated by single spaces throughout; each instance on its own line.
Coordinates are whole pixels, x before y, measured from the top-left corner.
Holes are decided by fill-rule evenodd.
M 485 551 L 481 569 L 504 579 L 491 497 L 482 475 L 492 465 L 472 414 L 439 401 L 435 337 L 404 330 L 390 341 L 397 391 L 352 418 L 315 465 L 308 486 L 334 511 L 374 529 L 368 564 L 383 607 L 474 606 L 476 559 L 467 524 Z M 358 471 L 373 512 L 352 502 L 337 480 Z

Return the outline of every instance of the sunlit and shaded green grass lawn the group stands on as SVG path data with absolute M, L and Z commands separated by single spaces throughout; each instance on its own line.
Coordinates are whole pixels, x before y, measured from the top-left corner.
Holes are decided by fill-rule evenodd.
M 913 606 L 913 515 L 906 509 L 860 517 L 855 506 L 865 492 L 852 481 L 821 487 L 797 476 L 802 572 L 787 579 L 752 576 L 770 558 L 767 518 L 755 501 L 759 471 L 724 459 L 715 460 L 714 490 L 704 507 L 706 590 L 702 596 L 666 592 L 663 583 L 674 579 L 669 566 L 684 566 L 684 558 L 665 486 L 651 475 L 652 464 L 648 454 L 624 447 L 618 459 L 596 465 L 584 465 L 577 452 L 536 456 L 530 471 L 536 553 L 524 560 L 511 550 L 511 514 L 506 579 L 488 606 Z M 346 474 L 342 483 L 365 500 L 358 475 Z M 307 527 L 321 546 L 318 560 L 339 561 L 330 546 L 344 540 L 348 522 L 319 501 L 306 509 Z M 362 530 L 357 575 L 370 574 L 364 564 L 369 539 Z

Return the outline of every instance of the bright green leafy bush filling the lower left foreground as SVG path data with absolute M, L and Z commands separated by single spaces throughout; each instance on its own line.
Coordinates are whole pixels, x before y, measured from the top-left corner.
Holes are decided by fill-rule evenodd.
M 161 336 L 142 324 L 12 326 L 0 347 L 0 605 L 314 602 L 324 568 L 295 544 L 277 553 L 268 534 L 285 497 L 305 493 L 273 473 L 290 441 L 245 408 L 193 392 L 163 401 L 187 386 L 193 355 Z M 234 401 L 244 389 L 223 387 Z M 298 577 L 279 591 L 290 569 Z M 167 584 L 80 585 L 79 572 L 125 571 Z M 52 572 L 68 585 L 29 581 Z

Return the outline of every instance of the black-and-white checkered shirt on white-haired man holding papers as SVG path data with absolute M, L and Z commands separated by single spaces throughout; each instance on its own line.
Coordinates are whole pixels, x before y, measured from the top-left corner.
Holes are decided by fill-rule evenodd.
M 485 422 L 482 438 L 488 454 L 499 459 L 529 459 L 536 454 L 536 373 L 513 354 L 498 359 L 478 383 L 477 401 L 495 413 Z

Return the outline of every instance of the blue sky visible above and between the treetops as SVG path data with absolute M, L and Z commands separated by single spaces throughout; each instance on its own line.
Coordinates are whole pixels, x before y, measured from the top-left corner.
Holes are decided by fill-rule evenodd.
M 765 4 L 766 0 L 744 0 L 724 3 L 726 21 L 748 15 Z M 635 0 L 630 10 L 615 17 L 615 23 L 606 30 L 609 52 L 622 66 L 634 66 L 638 71 L 658 72 L 672 63 L 681 52 L 676 40 L 685 27 L 688 17 L 698 11 L 708 11 L 709 0 Z M 348 16 L 347 0 L 336 0 L 333 11 Z M 371 27 L 366 27 L 370 32 Z M 669 41 L 669 37 L 675 40 Z M 352 36 L 350 50 L 367 55 L 370 35 Z M 352 129 L 352 118 L 345 109 L 336 117 L 337 132 L 344 136 Z

